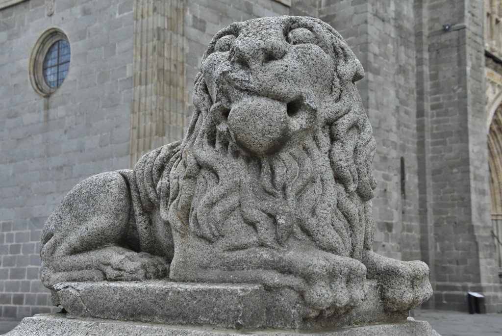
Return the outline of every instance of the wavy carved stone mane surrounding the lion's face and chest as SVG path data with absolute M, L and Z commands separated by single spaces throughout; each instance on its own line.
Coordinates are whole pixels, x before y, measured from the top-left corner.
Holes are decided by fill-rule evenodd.
M 329 25 L 296 19 L 321 26 L 336 65 L 332 103 L 320 111 L 322 120 L 303 146 L 254 157 L 229 142 L 209 116 L 212 100 L 199 72 L 185 139 L 147 154 L 135 167 L 137 180 L 144 181 L 141 194 L 148 195 L 142 203 L 160 203 L 162 219 L 175 230 L 191 230 L 208 241 L 218 239 L 222 223 L 237 213 L 257 234 L 234 248 L 278 247 L 294 235 L 323 251 L 360 260 L 363 245 L 372 249 L 370 199 L 376 186 L 369 166 L 375 142 L 354 84 L 362 78 L 362 67 Z M 234 29 L 230 25 L 216 34 L 204 59 Z M 293 183 L 288 187 L 286 181 Z M 355 230 L 361 226 L 365 229 Z

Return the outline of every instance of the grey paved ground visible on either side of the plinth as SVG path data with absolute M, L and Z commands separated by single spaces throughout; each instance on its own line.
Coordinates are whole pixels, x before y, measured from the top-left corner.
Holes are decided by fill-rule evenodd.
M 441 336 L 502 335 L 502 314 L 474 314 L 443 310 L 415 310 L 414 318 L 428 321 Z M 18 324 L 0 321 L 0 335 Z

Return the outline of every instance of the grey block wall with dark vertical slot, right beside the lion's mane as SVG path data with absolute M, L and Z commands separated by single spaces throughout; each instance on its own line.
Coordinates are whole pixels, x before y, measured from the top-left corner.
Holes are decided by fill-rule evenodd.
M 319 18 L 345 38 L 364 67 L 357 82 L 377 143 L 373 249 L 417 260 L 420 253 L 413 1 L 328 1 Z

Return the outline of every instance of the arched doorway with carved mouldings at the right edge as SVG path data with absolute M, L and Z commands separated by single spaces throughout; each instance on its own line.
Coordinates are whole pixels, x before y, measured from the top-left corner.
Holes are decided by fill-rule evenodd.
M 497 246 L 498 267 L 502 269 L 502 104 L 493 113 L 488 130 L 491 223 Z

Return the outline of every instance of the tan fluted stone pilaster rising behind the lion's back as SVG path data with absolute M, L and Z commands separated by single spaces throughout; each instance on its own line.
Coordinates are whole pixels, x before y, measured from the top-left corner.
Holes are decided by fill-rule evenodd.
M 182 0 L 136 2 L 131 168 L 146 152 L 185 133 L 185 16 Z

